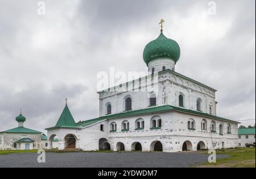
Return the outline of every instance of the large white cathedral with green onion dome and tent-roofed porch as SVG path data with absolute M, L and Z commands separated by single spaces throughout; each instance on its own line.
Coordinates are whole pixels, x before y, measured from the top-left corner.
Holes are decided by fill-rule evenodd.
M 54 127 L 47 128 L 48 149 L 83 151 L 197 151 L 238 145 L 238 122 L 216 115 L 216 90 L 175 72 L 176 41 L 161 28 L 146 45 L 149 74 L 98 92 L 100 116 L 75 122 L 67 103 Z M 196 68 L 196 66 L 195 66 Z M 158 93 L 144 91 L 156 76 Z M 153 84 L 154 83 L 154 84 Z M 117 88 L 127 90 L 116 90 Z

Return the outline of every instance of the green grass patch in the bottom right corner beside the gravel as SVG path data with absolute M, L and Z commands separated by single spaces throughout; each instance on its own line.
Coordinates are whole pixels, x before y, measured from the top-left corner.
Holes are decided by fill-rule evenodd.
M 217 159 L 216 163 L 204 163 L 199 167 L 234 167 L 255 168 L 255 148 L 221 149 L 217 155 L 228 155 L 224 159 Z

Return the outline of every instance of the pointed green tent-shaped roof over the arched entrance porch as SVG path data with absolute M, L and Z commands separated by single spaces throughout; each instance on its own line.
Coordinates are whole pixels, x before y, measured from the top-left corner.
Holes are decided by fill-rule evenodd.
M 66 126 L 67 128 L 69 127 L 76 127 L 76 122 L 73 119 L 73 116 L 71 112 L 68 109 L 68 105 L 64 107 L 63 112 L 60 115 L 60 118 L 58 122 L 56 123 L 55 127 L 63 127 Z

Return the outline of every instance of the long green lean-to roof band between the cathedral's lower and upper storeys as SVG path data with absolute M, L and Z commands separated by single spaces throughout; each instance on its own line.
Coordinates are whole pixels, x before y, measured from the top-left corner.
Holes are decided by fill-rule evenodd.
M 183 108 L 176 107 L 176 106 L 166 105 L 166 106 L 151 107 L 148 109 L 142 109 L 142 110 L 136 110 L 136 111 L 128 111 L 128 112 L 118 113 L 118 114 L 113 114 L 113 115 L 101 116 L 100 118 L 85 120 L 85 121 L 76 123 L 76 125 L 77 125 L 77 127 L 86 127 L 86 126 L 89 126 L 90 124 L 97 123 L 97 122 L 100 122 L 101 120 L 105 120 L 105 119 L 122 118 L 122 117 L 126 117 L 126 116 L 142 115 L 142 114 L 157 113 L 157 112 L 164 112 L 164 111 L 171 111 L 171 110 L 181 111 L 181 112 L 189 113 L 189 114 L 201 115 L 201 116 L 205 116 L 207 118 L 225 120 L 227 122 L 239 123 L 234 120 L 221 118 L 219 116 L 214 116 L 214 115 L 210 115 L 207 113 L 201 113 L 199 111 L 193 111 L 193 110 L 183 109 Z

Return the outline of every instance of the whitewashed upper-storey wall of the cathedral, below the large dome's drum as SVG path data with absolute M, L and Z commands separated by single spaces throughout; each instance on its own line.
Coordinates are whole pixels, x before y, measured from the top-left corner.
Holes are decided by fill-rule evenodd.
M 166 71 L 159 73 L 158 93 L 156 93 L 156 104 L 158 106 L 179 106 L 179 95 L 184 97 L 184 108 L 196 110 L 196 101 L 201 99 L 201 111 L 216 115 L 215 91 L 195 81 L 189 80 L 178 73 Z M 137 84 L 135 80 L 135 84 Z M 146 84 L 146 78 L 142 78 L 141 84 Z M 126 84 L 123 84 L 126 89 Z M 142 86 L 143 88 L 143 86 Z M 128 83 L 127 89 L 133 89 L 133 82 Z M 132 110 L 146 109 L 149 106 L 149 98 L 152 91 L 104 91 L 100 92 L 100 116 L 106 115 L 106 104 L 112 105 L 112 114 L 125 111 L 125 98 L 132 98 Z

